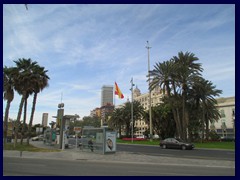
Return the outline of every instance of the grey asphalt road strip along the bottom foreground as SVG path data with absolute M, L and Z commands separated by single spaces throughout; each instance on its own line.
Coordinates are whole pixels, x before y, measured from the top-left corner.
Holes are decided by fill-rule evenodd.
M 3 157 L 4 176 L 234 176 L 235 168 Z

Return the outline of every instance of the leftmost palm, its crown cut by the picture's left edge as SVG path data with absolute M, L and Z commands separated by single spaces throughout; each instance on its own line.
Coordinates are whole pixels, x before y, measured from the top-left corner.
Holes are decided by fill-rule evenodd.
M 8 116 L 12 100 L 14 99 L 14 81 L 13 68 L 3 68 L 3 98 L 7 101 L 5 115 L 4 115 L 4 144 L 6 143 L 8 131 Z

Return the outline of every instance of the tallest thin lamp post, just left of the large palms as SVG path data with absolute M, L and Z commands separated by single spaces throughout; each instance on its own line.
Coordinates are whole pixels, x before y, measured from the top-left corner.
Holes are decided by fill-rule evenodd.
M 150 46 L 147 41 L 146 48 L 148 50 L 148 83 L 149 83 L 149 122 L 150 122 L 150 141 L 153 140 L 153 133 L 152 133 L 152 98 L 151 98 L 151 89 L 150 89 Z

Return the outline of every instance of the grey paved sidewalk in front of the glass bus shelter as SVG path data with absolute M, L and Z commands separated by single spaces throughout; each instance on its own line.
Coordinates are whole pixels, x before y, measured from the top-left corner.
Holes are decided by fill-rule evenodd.
M 40 142 L 31 142 L 40 148 L 57 148 L 48 146 Z M 188 159 L 164 156 L 150 156 L 144 154 L 135 154 L 129 152 L 116 152 L 114 154 L 99 154 L 79 148 L 65 149 L 60 152 L 19 152 L 19 151 L 3 151 L 3 157 L 19 157 L 19 158 L 41 158 L 41 159 L 59 159 L 59 160 L 79 160 L 79 161 L 102 161 L 116 163 L 133 163 L 133 164 L 165 164 L 165 165 L 181 165 L 181 166 L 211 166 L 211 167 L 228 167 L 235 168 L 233 161 L 219 160 L 202 160 Z

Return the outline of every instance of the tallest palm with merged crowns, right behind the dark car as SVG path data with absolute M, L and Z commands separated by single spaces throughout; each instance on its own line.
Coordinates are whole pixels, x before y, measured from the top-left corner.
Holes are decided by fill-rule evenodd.
M 187 139 L 188 109 L 187 93 L 191 87 L 194 77 L 200 76 L 202 72 L 201 64 L 196 63 L 198 58 L 193 53 L 179 52 L 170 61 L 155 65 L 155 69 L 150 72 L 153 77 L 150 88 L 160 85 L 163 90 L 167 90 L 166 101 L 171 104 L 174 120 L 177 127 L 177 135 L 183 140 Z M 181 102 L 181 104 L 179 103 Z

